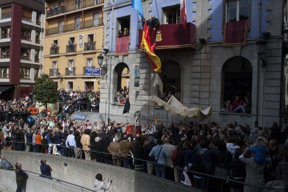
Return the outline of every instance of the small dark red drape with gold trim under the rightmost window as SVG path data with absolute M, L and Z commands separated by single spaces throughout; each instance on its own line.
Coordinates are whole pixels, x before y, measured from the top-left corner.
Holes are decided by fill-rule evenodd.
M 227 22 L 224 26 L 223 46 L 247 44 L 248 20 Z

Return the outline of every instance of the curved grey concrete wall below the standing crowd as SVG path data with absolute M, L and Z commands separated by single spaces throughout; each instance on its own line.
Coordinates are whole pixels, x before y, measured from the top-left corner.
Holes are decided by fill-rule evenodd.
M 94 161 L 86 161 L 84 159 L 75 159 L 71 157 L 63 157 L 57 155 L 48 155 L 43 153 L 22 152 L 22 151 L 2 151 L 6 159 L 12 165 L 17 162 L 22 164 L 23 170 L 29 170 L 39 173 L 40 160 L 45 158 L 47 164 L 51 166 L 53 171 L 52 177 L 61 178 L 62 180 L 74 183 L 76 185 L 93 189 L 93 181 L 96 174 L 101 173 L 103 177 L 111 177 L 113 183 L 111 192 L 130 192 L 130 191 L 191 191 L 191 187 L 175 183 L 170 180 L 142 173 L 135 170 L 125 169 L 121 167 L 111 166 Z M 67 161 L 67 166 L 64 166 Z M 3 178 L 3 177 L 0 177 Z M 105 181 L 107 181 L 106 179 Z M 197 189 L 194 189 L 197 191 Z

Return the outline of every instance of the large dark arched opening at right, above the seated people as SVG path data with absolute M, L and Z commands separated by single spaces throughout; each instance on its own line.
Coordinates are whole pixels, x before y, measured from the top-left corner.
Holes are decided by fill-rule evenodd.
M 236 96 L 243 100 L 252 92 L 252 65 L 244 57 L 236 56 L 228 59 L 222 66 L 221 71 L 221 103 L 231 100 Z

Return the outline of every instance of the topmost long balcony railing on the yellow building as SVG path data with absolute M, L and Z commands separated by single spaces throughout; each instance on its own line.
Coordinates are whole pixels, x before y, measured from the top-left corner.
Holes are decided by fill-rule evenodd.
M 79 1 L 79 2 L 75 2 L 75 3 L 71 3 L 68 5 L 62 6 L 62 7 L 48 10 L 46 12 L 46 17 L 74 11 L 74 10 L 89 7 L 92 5 L 98 5 L 98 4 L 101 4 L 103 2 L 104 2 L 104 0 L 85 0 L 85 1 Z

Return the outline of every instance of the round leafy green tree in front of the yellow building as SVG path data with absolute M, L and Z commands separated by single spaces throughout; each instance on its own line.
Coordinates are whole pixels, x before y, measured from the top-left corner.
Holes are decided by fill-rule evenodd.
M 53 79 L 49 77 L 48 74 L 42 73 L 40 77 L 36 79 L 34 85 L 34 99 L 44 104 L 45 109 L 47 109 L 47 103 L 57 102 L 58 92 Z

